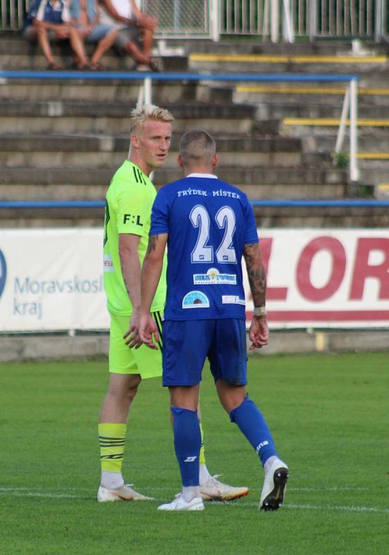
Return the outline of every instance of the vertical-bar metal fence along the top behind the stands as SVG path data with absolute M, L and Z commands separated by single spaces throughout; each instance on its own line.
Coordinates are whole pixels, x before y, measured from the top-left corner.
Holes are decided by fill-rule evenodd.
M 0 0 L 0 30 L 22 28 L 31 0 Z M 157 37 L 251 35 L 293 42 L 295 37 L 362 38 L 389 35 L 387 0 L 140 0 L 159 20 Z

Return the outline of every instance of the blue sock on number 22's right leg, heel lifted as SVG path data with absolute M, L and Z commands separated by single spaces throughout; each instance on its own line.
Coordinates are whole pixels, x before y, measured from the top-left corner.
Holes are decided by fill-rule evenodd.
M 278 456 L 272 434 L 267 427 L 266 420 L 256 404 L 249 399 L 245 400 L 230 412 L 231 422 L 238 425 L 259 455 L 262 466 L 270 456 Z

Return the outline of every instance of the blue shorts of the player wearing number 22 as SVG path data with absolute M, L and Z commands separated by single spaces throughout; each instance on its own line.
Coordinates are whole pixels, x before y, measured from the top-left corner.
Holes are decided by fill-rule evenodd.
M 163 322 L 163 386 L 194 386 L 208 357 L 215 382 L 247 384 L 246 323 L 244 320 L 185 320 Z

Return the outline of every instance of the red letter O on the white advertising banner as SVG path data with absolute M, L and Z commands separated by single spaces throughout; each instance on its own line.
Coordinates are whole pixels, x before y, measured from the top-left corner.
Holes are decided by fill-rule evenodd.
M 328 251 L 332 256 L 332 268 L 328 282 L 324 287 L 315 287 L 311 282 L 311 265 L 320 250 Z M 334 237 L 317 237 L 308 243 L 297 263 L 297 287 L 301 296 L 308 300 L 326 300 L 338 291 L 346 270 L 346 252 L 343 245 Z

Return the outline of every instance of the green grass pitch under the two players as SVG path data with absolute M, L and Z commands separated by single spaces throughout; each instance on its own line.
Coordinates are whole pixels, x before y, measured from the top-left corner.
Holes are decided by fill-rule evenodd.
M 4 555 L 389 552 L 389 355 L 251 357 L 248 391 L 290 466 L 283 508 L 258 511 L 262 469 L 217 402 L 201 407 L 210 472 L 247 497 L 160 513 L 179 491 L 167 391 L 140 388 L 124 476 L 152 502 L 98 504 L 97 418 L 106 361 L 0 365 L 0 551 Z

